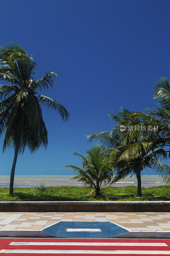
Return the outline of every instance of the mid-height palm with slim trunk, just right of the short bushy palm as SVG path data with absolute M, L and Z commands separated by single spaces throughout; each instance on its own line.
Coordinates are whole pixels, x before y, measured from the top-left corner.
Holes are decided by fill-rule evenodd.
M 110 184 L 134 174 L 137 177 L 137 196 L 142 196 L 141 171 L 151 168 L 168 183 L 170 167 L 159 161 L 167 159 L 167 152 L 160 147 L 156 131 L 141 129 L 140 120 L 135 115 L 135 112 L 122 108 L 117 115 L 109 115 L 116 124 L 111 132 L 90 134 L 88 140 L 98 141 L 111 153 L 115 176 Z M 121 125 L 127 130 L 120 131 Z

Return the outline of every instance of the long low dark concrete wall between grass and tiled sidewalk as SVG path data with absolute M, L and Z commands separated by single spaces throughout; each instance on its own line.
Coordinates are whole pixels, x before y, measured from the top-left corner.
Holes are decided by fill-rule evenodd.
M 0 202 L 0 212 L 170 212 L 170 201 Z

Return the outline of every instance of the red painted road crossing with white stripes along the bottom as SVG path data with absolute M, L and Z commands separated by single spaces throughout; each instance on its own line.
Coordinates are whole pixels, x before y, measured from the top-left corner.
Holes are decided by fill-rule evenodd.
M 0 256 L 170 255 L 167 239 L 0 239 Z

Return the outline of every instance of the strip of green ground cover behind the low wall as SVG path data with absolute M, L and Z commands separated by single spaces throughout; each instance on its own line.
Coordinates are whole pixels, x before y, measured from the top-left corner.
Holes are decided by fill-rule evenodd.
M 137 187 L 101 188 L 110 201 L 170 201 L 170 186 L 142 188 L 142 197 L 137 197 Z M 0 201 L 105 201 L 100 197 L 86 196 L 91 187 L 34 187 L 14 188 L 9 195 L 9 188 L 0 188 Z

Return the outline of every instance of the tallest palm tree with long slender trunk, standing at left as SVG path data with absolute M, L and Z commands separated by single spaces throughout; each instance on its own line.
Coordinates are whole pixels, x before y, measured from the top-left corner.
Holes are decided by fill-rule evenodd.
M 34 57 L 16 43 L 0 47 L 0 80 L 5 82 L 0 85 L 0 136 L 5 133 L 3 152 L 10 146 L 15 152 L 10 194 L 13 193 L 18 153 L 23 153 L 26 147 L 32 153 L 48 144 L 42 107 L 55 110 L 65 121 L 69 118 L 69 112 L 60 103 L 38 92 L 53 88 L 57 73 L 46 73 L 34 81 L 36 67 Z

